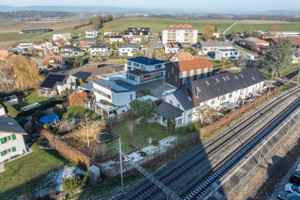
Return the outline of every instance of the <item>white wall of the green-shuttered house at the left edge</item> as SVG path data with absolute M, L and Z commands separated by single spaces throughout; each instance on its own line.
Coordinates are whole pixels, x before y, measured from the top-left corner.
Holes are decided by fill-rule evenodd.
M 7 136 L 11 136 L 12 134 L 8 134 L 8 133 L 1 133 L 0 134 L 0 139 L 7 137 Z M 7 150 L 7 149 L 11 149 L 12 147 L 16 147 L 16 151 L 15 152 L 10 152 L 5 156 L 1 156 L 0 154 L 0 163 L 3 162 L 6 159 L 10 159 L 12 156 L 16 156 L 16 155 L 22 155 L 23 153 L 26 153 L 26 147 L 25 147 L 25 143 L 24 143 L 24 139 L 22 135 L 16 134 L 16 140 L 10 140 L 7 141 L 4 144 L 0 143 L 0 152 Z

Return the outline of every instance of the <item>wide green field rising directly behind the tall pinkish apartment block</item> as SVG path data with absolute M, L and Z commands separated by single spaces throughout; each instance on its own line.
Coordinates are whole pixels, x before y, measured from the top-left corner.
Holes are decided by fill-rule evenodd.
M 184 20 L 184 19 L 156 19 L 156 18 L 129 18 L 118 19 L 105 23 L 100 32 L 104 30 L 113 30 L 115 32 L 124 33 L 128 27 L 150 27 L 151 32 L 161 32 L 162 29 L 167 28 L 170 24 L 191 24 L 194 28 L 202 31 L 205 25 L 217 26 L 218 32 L 224 31 L 234 20 Z

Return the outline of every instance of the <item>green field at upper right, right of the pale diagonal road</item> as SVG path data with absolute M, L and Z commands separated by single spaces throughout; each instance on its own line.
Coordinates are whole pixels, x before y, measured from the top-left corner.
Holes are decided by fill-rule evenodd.
M 237 32 L 244 32 L 245 30 L 261 30 L 266 31 L 269 26 L 272 24 L 278 24 L 282 31 L 300 31 L 300 23 L 294 23 L 294 22 L 272 22 L 272 21 L 240 21 L 238 24 L 236 24 L 233 28 L 231 28 L 227 33 L 231 33 L 232 30 L 235 30 Z

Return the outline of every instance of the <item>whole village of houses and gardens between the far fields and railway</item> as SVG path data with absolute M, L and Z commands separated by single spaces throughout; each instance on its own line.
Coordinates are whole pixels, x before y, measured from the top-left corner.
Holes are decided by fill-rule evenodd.
M 147 166 L 174 146 L 186 147 L 183 141 L 188 144 L 192 135 L 210 138 L 228 118 L 239 120 L 296 86 L 291 81 L 297 77 L 287 75 L 299 68 L 300 32 L 209 28 L 199 32 L 190 24 L 170 24 L 153 32 L 144 24 L 122 33 L 53 33 L 52 39 L 0 50 L 0 176 L 9 170 L 6 164 L 55 149 L 89 171 L 80 175 L 81 184 L 88 176 L 89 185 L 101 185 L 119 175 L 119 138 L 128 159 Z M 19 34 L 39 31 L 52 30 Z M 268 67 L 282 43 L 292 48 L 290 67 Z M 35 75 L 10 78 L 27 71 L 14 65 L 18 62 Z M 22 192 L 17 195 L 27 194 Z

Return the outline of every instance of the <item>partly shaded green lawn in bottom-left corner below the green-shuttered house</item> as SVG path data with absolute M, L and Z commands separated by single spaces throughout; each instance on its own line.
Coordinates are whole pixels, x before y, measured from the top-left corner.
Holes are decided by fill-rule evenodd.
M 25 193 L 33 193 L 45 182 L 46 175 L 68 163 L 56 151 L 32 147 L 33 153 L 5 164 L 0 174 L 0 199 L 14 199 Z

